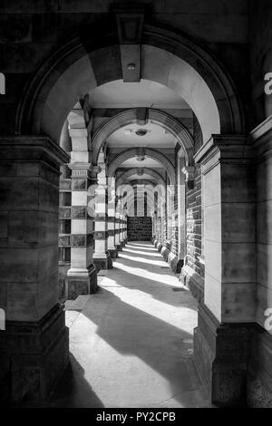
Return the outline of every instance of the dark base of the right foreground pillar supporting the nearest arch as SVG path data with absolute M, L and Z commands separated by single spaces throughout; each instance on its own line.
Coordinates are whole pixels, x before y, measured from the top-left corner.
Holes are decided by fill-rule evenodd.
M 194 330 L 194 361 L 210 402 L 219 407 L 247 406 L 247 370 L 253 324 L 220 324 L 199 305 Z

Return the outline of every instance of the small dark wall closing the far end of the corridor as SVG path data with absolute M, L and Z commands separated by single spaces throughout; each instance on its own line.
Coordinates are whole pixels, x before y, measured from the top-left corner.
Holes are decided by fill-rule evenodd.
M 128 217 L 128 240 L 129 241 L 151 241 L 152 219 L 148 216 L 141 218 Z

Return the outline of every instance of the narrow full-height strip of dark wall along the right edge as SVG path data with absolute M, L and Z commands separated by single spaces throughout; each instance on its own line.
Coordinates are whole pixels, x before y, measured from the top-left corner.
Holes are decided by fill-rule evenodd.
M 254 143 L 256 166 L 256 236 L 257 236 L 257 286 L 256 329 L 252 339 L 252 352 L 248 369 L 248 405 L 272 407 L 272 336 L 265 331 L 267 308 L 272 307 L 272 95 L 264 91 L 266 73 L 272 73 L 272 9 L 271 1 L 251 1 L 249 35 L 251 95 L 254 111 Z M 269 119 L 270 117 L 270 119 Z

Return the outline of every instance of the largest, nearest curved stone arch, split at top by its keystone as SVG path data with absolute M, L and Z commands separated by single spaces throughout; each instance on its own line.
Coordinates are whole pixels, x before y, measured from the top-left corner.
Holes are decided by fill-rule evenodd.
M 122 78 L 120 47 L 112 45 L 115 35 L 105 34 L 88 43 L 77 36 L 53 53 L 24 90 L 16 132 L 45 134 L 59 141 L 73 105 L 98 85 Z M 145 25 L 141 56 L 141 78 L 160 82 L 183 97 L 199 120 L 204 143 L 213 133 L 244 131 L 244 114 L 233 82 L 194 41 Z

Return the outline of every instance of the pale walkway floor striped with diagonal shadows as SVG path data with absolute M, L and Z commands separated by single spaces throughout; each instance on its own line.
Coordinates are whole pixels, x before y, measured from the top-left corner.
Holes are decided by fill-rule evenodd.
M 96 295 L 68 304 L 73 371 L 52 405 L 208 407 L 192 360 L 195 299 L 150 243 L 128 243 L 113 266 Z

